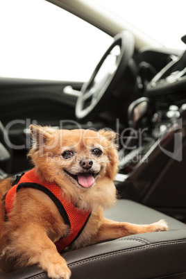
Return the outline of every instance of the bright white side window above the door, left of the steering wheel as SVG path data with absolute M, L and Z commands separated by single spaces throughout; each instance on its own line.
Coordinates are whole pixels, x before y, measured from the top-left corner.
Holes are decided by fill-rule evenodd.
M 112 43 L 98 28 L 43 0 L 0 0 L 0 76 L 87 81 Z

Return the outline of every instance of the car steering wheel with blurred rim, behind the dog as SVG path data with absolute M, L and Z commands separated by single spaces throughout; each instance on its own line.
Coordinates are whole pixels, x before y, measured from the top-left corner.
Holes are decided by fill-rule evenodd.
M 132 33 L 123 31 L 114 37 L 114 42 L 105 52 L 93 71 L 90 80 L 83 84 L 76 102 L 76 117 L 85 119 L 101 109 L 103 101 L 124 74 L 129 59 L 133 56 L 135 41 Z

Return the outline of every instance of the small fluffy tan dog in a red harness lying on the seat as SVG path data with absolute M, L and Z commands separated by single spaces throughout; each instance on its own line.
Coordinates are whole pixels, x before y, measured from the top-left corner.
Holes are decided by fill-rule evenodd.
M 103 217 L 117 201 L 115 132 L 31 125 L 31 135 L 34 168 L 0 184 L 2 273 L 37 264 L 49 278 L 68 279 L 65 249 L 168 230 L 164 220 L 136 225 Z

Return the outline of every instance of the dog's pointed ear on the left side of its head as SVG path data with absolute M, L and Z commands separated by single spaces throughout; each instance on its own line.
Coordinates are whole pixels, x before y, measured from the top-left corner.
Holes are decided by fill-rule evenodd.
M 55 129 L 49 126 L 42 127 L 40 125 L 31 125 L 30 128 L 33 145 L 36 148 L 39 148 L 44 144 L 47 145 L 47 142 L 50 142 L 50 140 L 53 139 L 53 134 L 56 132 Z

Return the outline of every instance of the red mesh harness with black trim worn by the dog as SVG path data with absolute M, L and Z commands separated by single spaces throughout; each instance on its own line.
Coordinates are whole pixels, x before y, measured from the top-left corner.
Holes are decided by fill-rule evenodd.
M 35 173 L 35 169 L 26 172 L 17 185 L 12 186 L 12 188 L 6 193 L 5 197 L 5 207 L 7 217 L 12 211 L 13 203 L 15 201 L 15 194 L 22 188 L 34 188 L 47 194 L 51 200 L 56 204 L 62 219 L 69 226 L 70 230 L 68 235 L 62 236 L 58 242 L 56 242 L 56 247 L 58 252 L 62 252 L 65 247 L 69 246 L 71 242 L 81 234 L 83 228 L 90 217 L 90 211 L 83 211 L 76 208 L 73 203 L 67 203 L 64 196 L 62 195 L 62 190 L 56 183 L 49 183 L 47 181 L 40 180 L 39 176 Z

